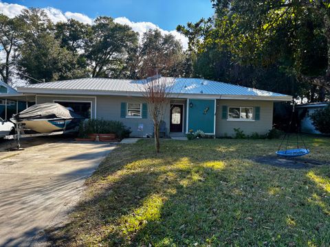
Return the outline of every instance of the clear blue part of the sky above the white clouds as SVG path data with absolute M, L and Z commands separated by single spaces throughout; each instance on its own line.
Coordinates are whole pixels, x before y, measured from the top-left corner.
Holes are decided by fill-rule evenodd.
M 11 0 L 27 7 L 52 7 L 63 12 L 78 12 L 94 19 L 99 15 L 126 17 L 130 21 L 147 21 L 163 30 L 175 30 L 179 24 L 196 22 L 212 16 L 210 0 Z

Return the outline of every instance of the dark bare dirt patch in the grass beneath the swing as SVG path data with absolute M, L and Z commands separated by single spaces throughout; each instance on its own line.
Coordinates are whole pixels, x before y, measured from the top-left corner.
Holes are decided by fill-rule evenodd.
M 329 162 L 319 161 L 314 158 L 296 157 L 284 158 L 276 155 L 256 156 L 252 161 L 263 165 L 273 165 L 276 167 L 285 167 L 292 169 L 308 169 L 318 167 L 321 165 L 329 165 Z

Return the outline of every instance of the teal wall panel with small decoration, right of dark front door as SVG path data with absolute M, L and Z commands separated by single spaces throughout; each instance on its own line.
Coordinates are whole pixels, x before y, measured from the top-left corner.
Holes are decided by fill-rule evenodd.
M 189 99 L 188 131 L 202 130 L 204 133 L 214 133 L 214 99 Z

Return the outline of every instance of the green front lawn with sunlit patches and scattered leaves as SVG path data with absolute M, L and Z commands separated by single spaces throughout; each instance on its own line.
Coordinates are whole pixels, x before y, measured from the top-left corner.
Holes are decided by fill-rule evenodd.
M 330 161 L 330 139 L 306 137 Z M 63 246 L 329 246 L 330 167 L 254 163 L 281 140 L 203 139 L 121 145 L 87 180 Z M 305 156 L 306 157 L 306 156 Z M 53 229 L 54 230 L 54 229 Z

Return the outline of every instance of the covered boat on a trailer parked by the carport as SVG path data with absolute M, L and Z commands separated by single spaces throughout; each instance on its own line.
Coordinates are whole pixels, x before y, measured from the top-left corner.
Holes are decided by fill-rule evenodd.
M 10 119 L 14 124 L 20 124 L 24 130 L 37 133 L 73 132 L 78 131 L 78 126 L 85 117 L 61 104 L 44 103 L 35 104 L 21 111 Z

